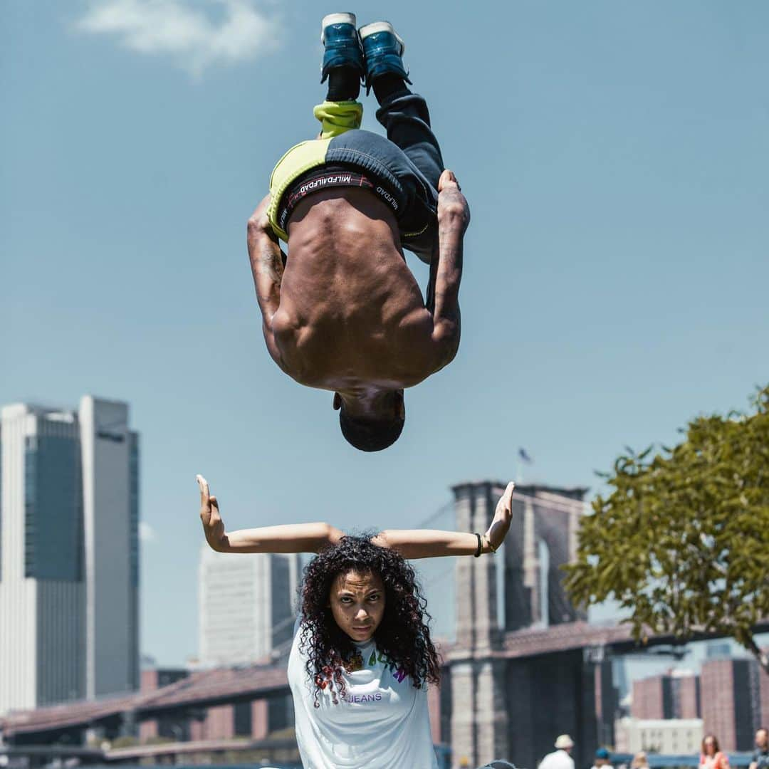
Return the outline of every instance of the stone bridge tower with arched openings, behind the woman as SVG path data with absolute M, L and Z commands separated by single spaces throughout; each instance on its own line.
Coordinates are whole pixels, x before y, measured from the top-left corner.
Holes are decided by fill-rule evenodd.
M 498 481 L 454 486 L 458 530 L 486 531 L 504 486 Z M 583 723 L 591 706 L 584 707 L 578 694 L 589 688 L 592 695 L 593 685 L 592 665 L 584 667 L 581 651 L 559 657 L 555 666 L 553 661 L 536 658 L 508 661 L 504 654 L 505 633 L 585 618 L 568 601 L 561 571 L 561 565 L 576 553 L 585 491 L 517 487 L 504 551 L 457 559 L 457 643 L 448 660 L 455 763 L 467 759 L 469 765 L 478 766 L 494 757 L 511 757 L 533 765 L 534 757 L 552 749 L 558 734 L 548 736 L 556 725 L 542 718 L 541 708 L 551 699 L 561 701 L 560 711 L 551 709 L 558 711 L 559 723 L 572 724 L 574 736 L 594 731 L 592 723 Z M 498 584 L 503 591 L 499 597 Z M 503 616 L 499 616 L 498 603 Z M 551 667 L 558 670 L 554 680 Z M 539 691 L 540 681 L 547 681 L 546 691 Z M 521 729 L 531 719 L 532 708 L 540 711 L 542 728 L 532 723 L 531 728 Z M 593 742 L 594 737 L 582 737 L 582 749 Z

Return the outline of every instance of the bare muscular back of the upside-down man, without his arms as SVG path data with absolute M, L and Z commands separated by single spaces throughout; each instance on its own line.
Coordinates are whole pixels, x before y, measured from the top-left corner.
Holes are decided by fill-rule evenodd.
M 288 232 L 272 332 L 289 375 L 335 391 L 398 390 L 440 368 L 432 316 L 379 198 L 357 188 L 317 193 Z

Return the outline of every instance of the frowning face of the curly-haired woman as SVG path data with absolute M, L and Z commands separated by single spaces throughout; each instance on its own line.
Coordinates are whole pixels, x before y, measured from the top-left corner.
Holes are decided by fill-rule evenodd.
M 384 616 L 384 582 L 371 572 L 337 574 L 328 602 L 342 631 L 353 641 L 368 641 Z

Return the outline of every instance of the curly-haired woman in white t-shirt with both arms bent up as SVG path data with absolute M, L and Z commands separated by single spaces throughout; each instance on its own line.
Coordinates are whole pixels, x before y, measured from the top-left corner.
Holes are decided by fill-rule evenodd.
M 405 558 L 493 553 L 510 528 L 508 484 L 484 534 L 381 531 L 345 536 L 325 523 L 225 531 L 198 475 L 208 544 L 224 553 L 315 553 L 305 568 L 288 657 L 305 769 L 437 767 L 427 685 L 438 653 L 424 597 Z

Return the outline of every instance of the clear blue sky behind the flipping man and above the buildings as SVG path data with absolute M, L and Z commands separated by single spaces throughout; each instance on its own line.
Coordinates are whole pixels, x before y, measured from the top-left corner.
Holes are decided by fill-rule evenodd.
M 408 391 L 398 444 L 349 448 L 331 394 L 268 357 L 245 251 L 317 131 L 338 10 L 0 6 L 0 403 L 131 403 L 165 664 L 197 647 L 197 472 L 231 528 L 411 526 L 451 484 L 514 477 L 519 446 L 528 480 L 597 488 L 624 445 L 769 381 L 769 5 L 358 3 L 405 38 L 473 221 L 458 358 Z

